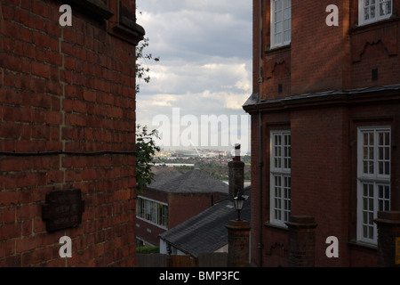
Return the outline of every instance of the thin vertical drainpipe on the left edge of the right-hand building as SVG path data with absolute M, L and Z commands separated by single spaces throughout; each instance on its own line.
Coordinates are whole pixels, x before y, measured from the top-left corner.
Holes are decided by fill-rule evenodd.
M 259 45 L 260 45 L 260 57 L 259 57 L 259 96 L 258 103 L 261 102 L 261 94 L 262 94 L 262 74 L 261 74 L 261 62 L 262 62 L 262 0 L 260 0 L 260 33 L 259 33 Z M 259 262 L 260 267 L 262 266 L 262 117 L 261 111 L 259 109 Z

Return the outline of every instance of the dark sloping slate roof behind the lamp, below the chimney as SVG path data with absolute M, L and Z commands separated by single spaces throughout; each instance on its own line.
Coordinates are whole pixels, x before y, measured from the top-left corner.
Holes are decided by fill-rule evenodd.
M 250 222 L 250 187 L 246 187 L 244 208 L 240 212 L 243 220 Z M 211 208 L 191 217 L 187 221 L 160 234 L 160 238 L 180 251 L 197 257 L 200 253 L 214 252 L 228 244 L 229 220 L 236 220 L 237 211 L 228 199 L 220 200 Z

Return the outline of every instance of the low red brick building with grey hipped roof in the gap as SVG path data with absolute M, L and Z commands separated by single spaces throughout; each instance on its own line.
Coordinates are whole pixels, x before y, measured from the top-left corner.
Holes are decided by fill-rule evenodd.
M 228 197 L 228 184 L 194 169 L 155 169 L 154 181 L 138 197 L 138 245 L 159 246 L 159 235 Z

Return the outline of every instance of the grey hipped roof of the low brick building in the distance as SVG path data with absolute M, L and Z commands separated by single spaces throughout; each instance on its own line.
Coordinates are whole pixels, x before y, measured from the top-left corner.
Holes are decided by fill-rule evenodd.
M 172 170 L 160 172 L 155 175 L 155 181 L 148 187 L 169 192 L 228 193 L 228 184 L 197 168 L 185 174 L 177 174 Z

